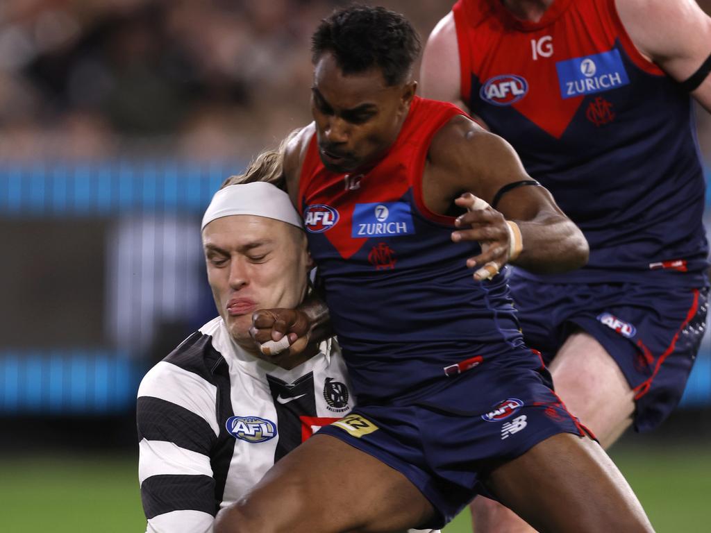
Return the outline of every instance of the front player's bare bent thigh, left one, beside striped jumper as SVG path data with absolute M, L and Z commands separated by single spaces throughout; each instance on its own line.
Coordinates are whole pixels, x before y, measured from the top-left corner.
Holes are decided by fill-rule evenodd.
M 404 475 L 328 435 L 315 435 L 270 469 L 240 505 L 268 531 L 388 532 L 427 522 L 432 505 Z

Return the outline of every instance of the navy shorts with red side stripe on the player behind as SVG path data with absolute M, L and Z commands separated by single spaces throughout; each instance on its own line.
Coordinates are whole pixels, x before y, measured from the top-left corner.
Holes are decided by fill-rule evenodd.
M 703 338 L 708 289 L 659 285 L 549 284 L 510 276 L 525 342 L 546 363 L 572 331 L 592 335 L 634 389 L 636 431 L 679 403 Z

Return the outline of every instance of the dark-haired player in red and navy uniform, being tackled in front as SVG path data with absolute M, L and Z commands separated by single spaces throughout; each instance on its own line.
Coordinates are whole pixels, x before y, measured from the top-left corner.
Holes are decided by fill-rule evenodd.
M 415 96 L 419 39 L 405 18 L 336 11 L 312 51 L 314 122 L 284 174 L 358 404 L 222 510 L 215 532 L 441 527 L 479 493 L 541 531 L 651 531 L 523 343 L 499 273 L 582 266 L 582 233 L 540 186 L 488 206 L 531 179 L 506 141 Z M 295 340 L 299 321 L 256 313 L 255 338 Z

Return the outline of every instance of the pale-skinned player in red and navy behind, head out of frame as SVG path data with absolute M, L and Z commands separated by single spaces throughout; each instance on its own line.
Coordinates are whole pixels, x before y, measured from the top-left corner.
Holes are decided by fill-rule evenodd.
M 674 409 L 705 330 L 691 103 L 711 110 L 710 54 L 694 0 L 460 0 L 424 51 L 422 94 L 509 141 L 589 242 L 583 269 L 514 269 L 509 284 L 526 343 L 605 447 Z M 472 508 L 477 531 L 530 530 L 483 498 Z

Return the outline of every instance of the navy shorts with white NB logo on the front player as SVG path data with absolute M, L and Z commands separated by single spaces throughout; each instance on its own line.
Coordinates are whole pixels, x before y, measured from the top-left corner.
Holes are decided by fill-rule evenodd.
M 398 404 L 358 406 L 319 434 L 345 441 L 399 471 L 432 503 L 439 529 L 477 494 L 490 470 L 546 438 L 587 434 L 549 387 L 540 356 L 506 348 L 446 385 Z

